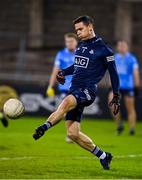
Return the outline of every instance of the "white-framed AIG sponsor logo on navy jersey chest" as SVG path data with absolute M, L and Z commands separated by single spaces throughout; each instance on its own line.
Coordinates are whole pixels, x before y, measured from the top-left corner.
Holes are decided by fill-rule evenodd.
M 74 66 L 87 68 L 88 63 L 89 63 L 89 58 L 83 56 L 77 56 L 77 55 L 75 56 Z

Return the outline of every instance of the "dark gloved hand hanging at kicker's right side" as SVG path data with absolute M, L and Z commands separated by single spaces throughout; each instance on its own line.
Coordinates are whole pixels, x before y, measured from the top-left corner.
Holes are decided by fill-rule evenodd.
M 120 94 L 119 93 L 116 93 L 113 95 L 113 98 L 109 103 L 109 106 L 113 108 L 113 114 L 116 116 L 120 110 Z

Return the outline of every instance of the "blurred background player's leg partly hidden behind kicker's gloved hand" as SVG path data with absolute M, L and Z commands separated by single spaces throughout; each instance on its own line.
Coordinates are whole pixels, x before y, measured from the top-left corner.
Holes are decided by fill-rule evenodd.
M 108 102 L 111 101 L 112 97 L 113 97 L 113 93 L 112 93 L 112 91 L 111 91 L 111 92 L 109 93 L 109 95 L 108 95 Z M 114 116 L 114 114 L 113 114 L 113 112 L 112 112 L 113 109 L 112 109 L 111 107 L 109 107 L 109 109 L 110 109 L 110 113 L 111 113 L 112 117 L 114 118 L 114 120 L 115 120 L 115 122 L 116 122 L 116 124 L 117 124 L 117 129 L 116 129 L 116 131 L 117 131 L 118 134 L 121 134 L 122 131 L 123 131 L 123 129 L 124 129 L 124 127 L 123 127 L 123 122 L 122 122 L 122 119 L 121 119 L 121 113 L 118 112 L 118 114 L 117 114 L 116 116 Z

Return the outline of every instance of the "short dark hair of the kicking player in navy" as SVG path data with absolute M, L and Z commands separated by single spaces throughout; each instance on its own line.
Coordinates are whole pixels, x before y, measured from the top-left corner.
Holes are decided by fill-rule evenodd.
M 77 24 L 83 22 L 85 25 L 89 25 L 92 24 L 94 26 L 94 19 L 90 16 L 84 15 L 84 16 L 79 16 L 78 18 L 76 18 L 75 20 L 73 20 L 73 24 Z

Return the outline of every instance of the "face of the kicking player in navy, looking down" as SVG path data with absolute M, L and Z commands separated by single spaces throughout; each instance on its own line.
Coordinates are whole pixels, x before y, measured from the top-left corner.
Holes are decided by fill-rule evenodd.
M 91 32 L 93 30 L 92 25 L 85 25 L 83 22 L 75 24 L 75 31 L 79 39 L 87 40 L 90 38 Z

